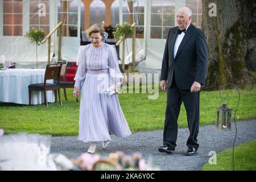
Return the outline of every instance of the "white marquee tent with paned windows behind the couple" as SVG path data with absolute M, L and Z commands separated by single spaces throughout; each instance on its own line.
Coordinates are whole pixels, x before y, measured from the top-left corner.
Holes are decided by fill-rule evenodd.
M 24 37 L 31 27 L 51 31 L 60 22 L 61 14 L 67 14 L 68 27 L 76 27 L 76 36 L 63 36 L 61 59 L 75 61 L 80 46 L 80 30 L 84 30 L 85 6 L 82 0 L 69 2 L 68 12 L 61 12 L 63 0 L 0 0 L 0 61 L 10 60 L 17 68 L 36 65 L 36 48 Z M 130 7 L 129 3 L 133 3 Z M 46 4 L 46 6 L 43 6 Z M 175 13 L 181 6 L 192 9 L 192 23 L 201 26 L 201 0 L 115 0 L 111 7 L 112 26 L 127 21 L 130 14 L 137 23 L 140 36 L 136 39 L 136 63 L 143 72 L 159 72 L 168 29 L 176 26 Z M 133 10 L 131 10 L 131 8 Z M 106 7 L 100 0 L 90 6 L 90 24 L 104 20 Z M 45 10 L 45 11 L 43 11 Z M 43 14 L 43 16 L 42 16 Z M 119 17 L 119 18 L 118 18 Z M 97 22 L 98 21 L 98 22 Z M 128 21 L 129 22 L 129 21 Z M 82 38 L 84 39 L 84 38 Z M 120 55 L 122 55 L 120 45 Z M 51 39 L 51 60 L 57 59 L 58 36 Z M 38 47 L 39 68 L 45 68 L 48 43 Z M 53 57 L 53 55 L 56 55 Z M 125 63 L 131 63 L 131 39 L 127 39 Z M 122 56 L 120 56 L 122 57 Z

